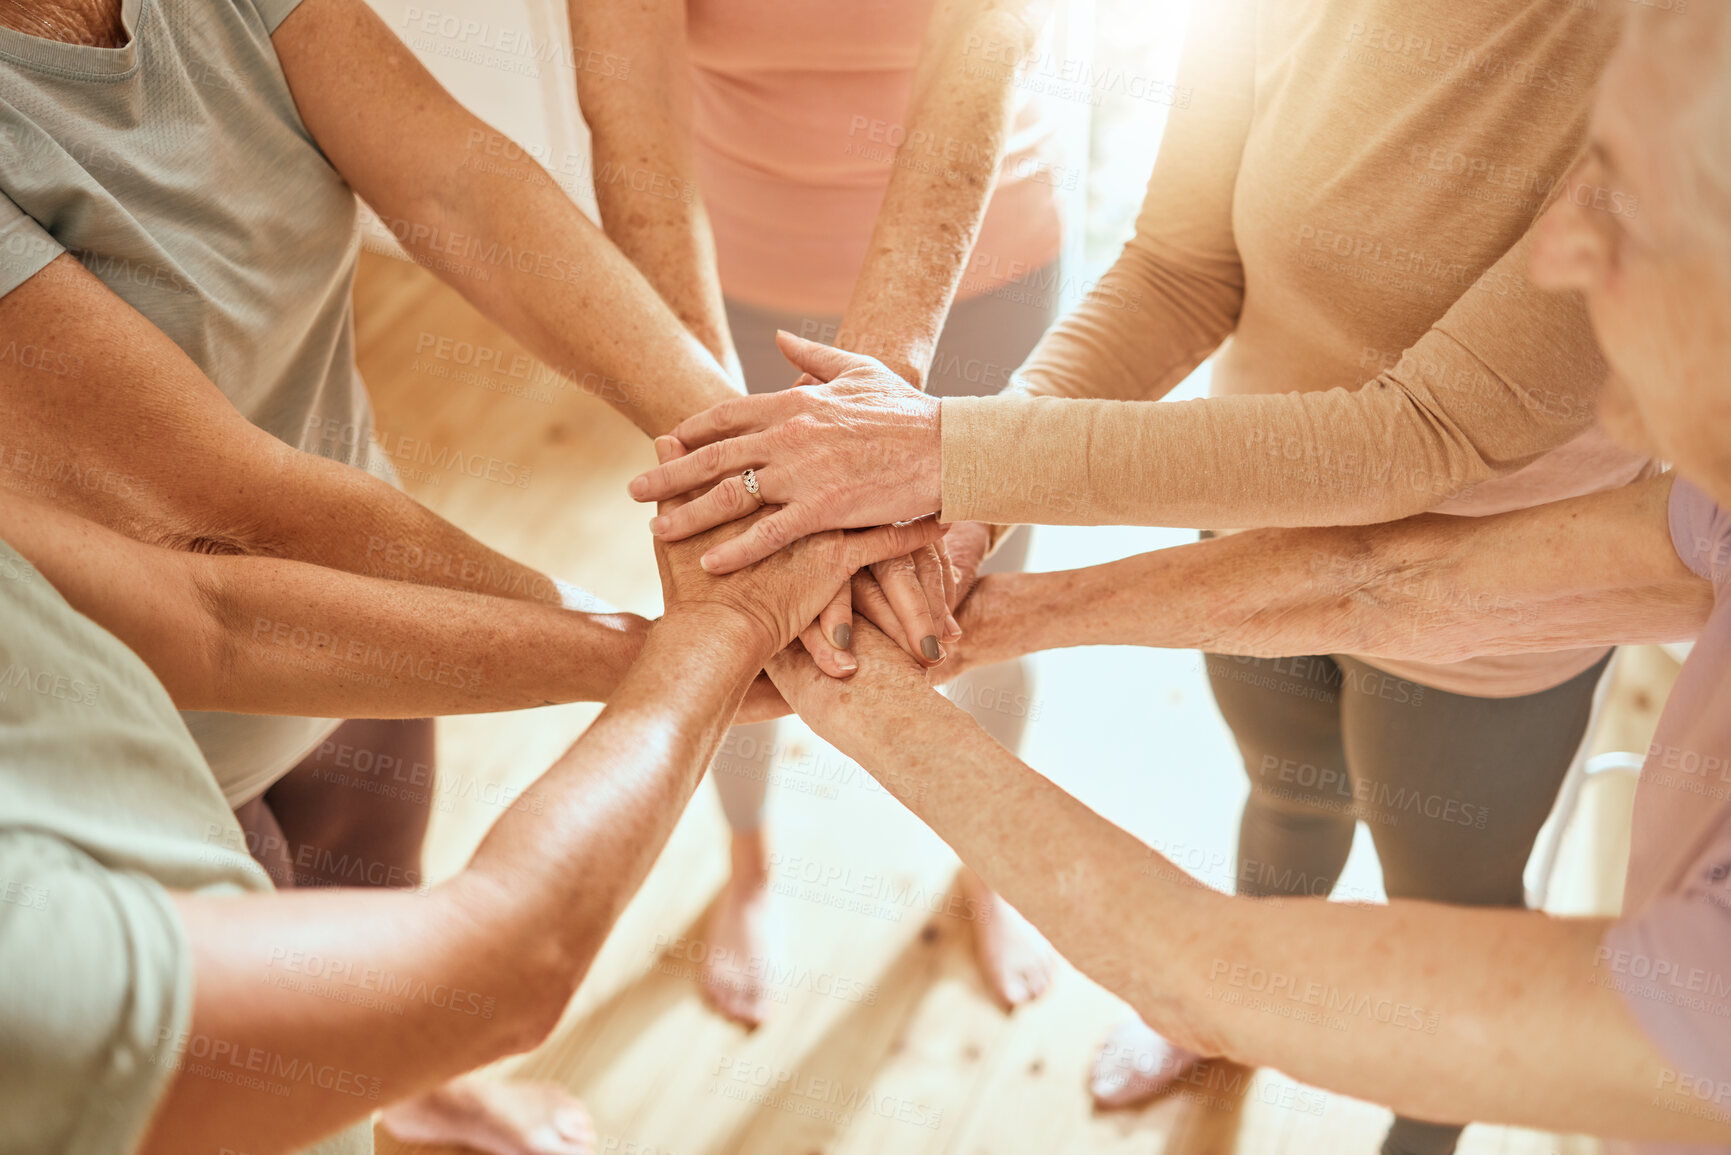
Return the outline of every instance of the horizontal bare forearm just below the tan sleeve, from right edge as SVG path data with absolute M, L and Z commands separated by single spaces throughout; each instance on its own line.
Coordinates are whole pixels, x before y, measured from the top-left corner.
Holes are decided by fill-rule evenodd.
M 1693 637 L 1714 594 L 1672 545 L 1670 488 L 1665 474 L 1494 518 L 1250 530 L 994 575 L 962 610 L 956 668 L 1063 646 L 1459 661 Z

